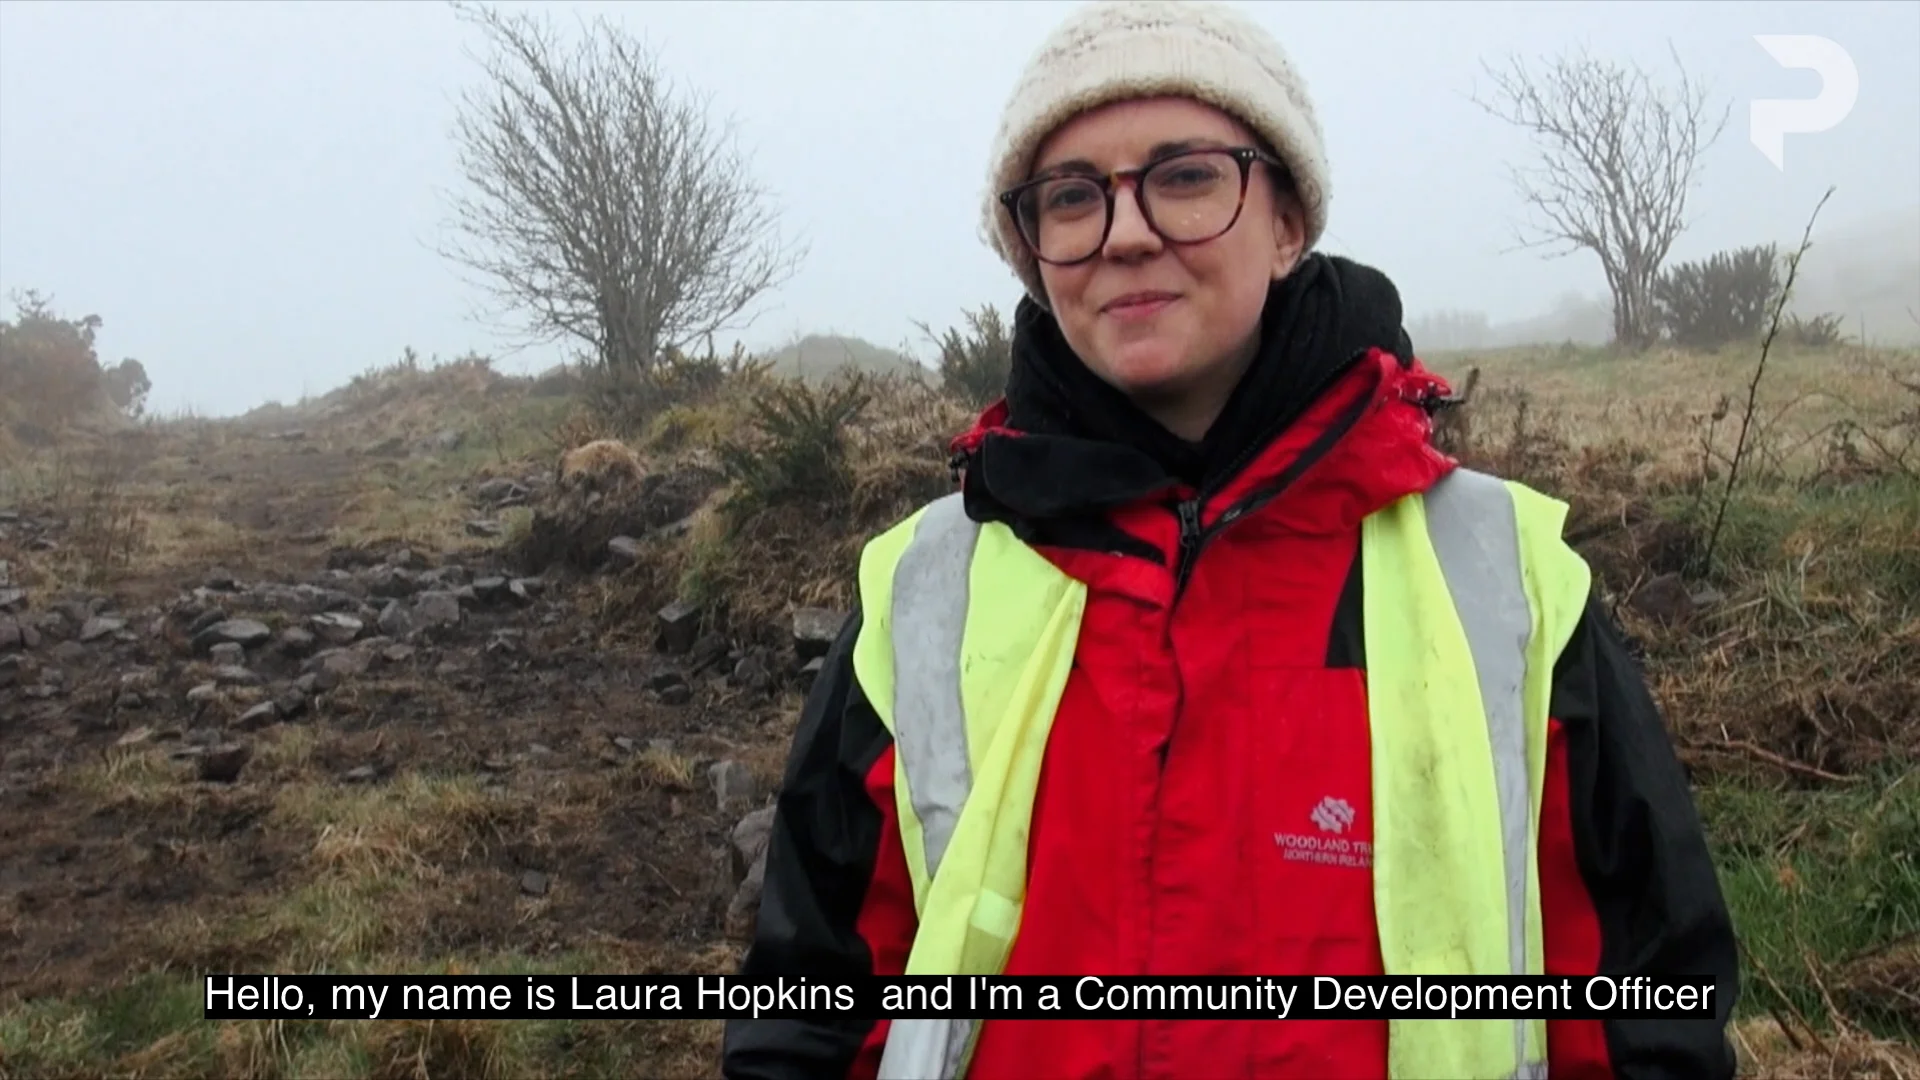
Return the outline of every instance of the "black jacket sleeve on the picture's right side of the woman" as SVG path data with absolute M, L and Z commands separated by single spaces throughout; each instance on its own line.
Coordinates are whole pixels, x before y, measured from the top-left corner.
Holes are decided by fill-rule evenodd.
M 1620 630 L 1597 601 L 1561 653 L 1574 855 L 1599 917 L 1599 974 L 1713 978 L 1711 1020 L 1605 1022 L 1620 1080 L 1732 1080 L 1734 924 L 1686 771 Z

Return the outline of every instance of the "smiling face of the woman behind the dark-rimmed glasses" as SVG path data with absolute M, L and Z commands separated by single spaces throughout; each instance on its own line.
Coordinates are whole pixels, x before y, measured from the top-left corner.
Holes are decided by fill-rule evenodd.
M 1033 175 L 1062 167 L 1106 175 L 1140 167 L 1173 144 L 1235 148 L 1258 140 L 1231 115 L 1190 98 L 1116 102 L 1054 131 Z M 1240 217 L 1213 240 L 1164 240 L 1146 225 L 1129 183 L 1116 192 L 1114 227 L 1091 259 L 1041 263 L 1048 304 L 1073 352 L 1187 438 L 1200 438 L 1225 405 L 1258 342 L 1267 288 L 1304 248 L 1298 204 L 1279 198 L 1263 173 L 1267 165 L 1254 165 Z M 1238 184 L 1236 171 L 1231 183 Z

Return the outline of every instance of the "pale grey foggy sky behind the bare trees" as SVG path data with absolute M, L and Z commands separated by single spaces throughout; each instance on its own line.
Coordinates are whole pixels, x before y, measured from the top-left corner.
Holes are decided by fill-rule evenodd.
M 914 344 L 1018 284 L 977 234 L 985 161 L 1012 81 L 1071 4 L 540 4 L 568 31 L 609 13 L 737 121 L 801 273 L 737 334 Z M 1244 4 L 1300 65 L 1327 129 L 1325 250 L 1388 271 L 1409 317 L 1496 321 L 1601 294 L 1590 254 L 1511 252 L 1507 163 L 1523 135 L 1480 111 L 1480 60 L 1584 44 L 1670 73 L 1668 42 L 1730 104 L 1676 259 L 1914 221 L 1920 254 L 1920 2 Z M 1753 35 L 1812 33 L 1860 73 L 1855 111 L 1747 138 L 1753 98 L 1812 96 Z M 415 2 L 0 2 L 0 302 L 52 294 L 98 313 L 102 361 L 138 357 L 152 411 L 228 415 L 321 394 L 405 346 L 497 352 L 482 294 L 432 252 L 478 31 Z M 1882 240 L 1887 240 L 1882 236 Z M 1920 296 L 1916 296 L 1920 302 Z M 728 342 L 722 342 L 722 346 Z M 507 356 L 538 371 L 559 348 Z

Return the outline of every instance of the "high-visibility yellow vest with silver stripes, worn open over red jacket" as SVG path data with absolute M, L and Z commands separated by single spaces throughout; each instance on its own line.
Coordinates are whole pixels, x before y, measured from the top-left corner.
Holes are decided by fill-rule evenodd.
M 1538 974 L 1553 661 L 1590 569 L 1567 505 L 1455 469 L 1361 523 L 1373 897 L 1388 974 Z M 1459 603 L 1455 603 L 1459 600 Z M 941 498 L 868 542 L 854 673 L 895 740 L 906 974 L 998 974 L 1087 586 Z M 1434 913 L 1452 932 L 1434 934 Z M 975 1020 L 895 1020 L 879 1076 L 966 1072 Z M 1390 1020 L 1388 1076 L 1546 1076 L 1544 1020 Z

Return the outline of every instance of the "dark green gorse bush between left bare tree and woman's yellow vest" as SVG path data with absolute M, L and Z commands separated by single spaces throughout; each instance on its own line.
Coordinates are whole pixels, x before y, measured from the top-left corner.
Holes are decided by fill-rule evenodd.
M 820 388 L 799 380 L 766 384 L 753 396 L 751 430 L 716 448 L 733 484 L 728 509 L 751 515 L 780 505 L 841 503 L 852 492 L 847 430 L 872 402 L 864 373 L 847 373 Z

